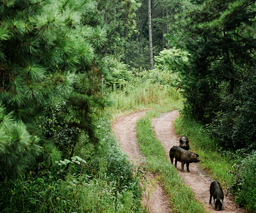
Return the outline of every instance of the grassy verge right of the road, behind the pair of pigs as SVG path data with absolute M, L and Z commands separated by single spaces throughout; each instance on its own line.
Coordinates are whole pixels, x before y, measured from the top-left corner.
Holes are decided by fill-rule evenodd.
M 201 159 L 199 166 L 207 171 L 226 189 L 231 182 L 232 155 L 223 152 L 215 139 L 208 138 L 202 125 L 188 114 L 181 114 L 174 121 L 176 133 L 189 139 L 190 151 L 196 152 Z

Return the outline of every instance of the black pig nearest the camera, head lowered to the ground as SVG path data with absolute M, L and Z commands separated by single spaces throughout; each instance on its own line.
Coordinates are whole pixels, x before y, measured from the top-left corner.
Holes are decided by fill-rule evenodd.
M 220 183 L 218 181 L 213 181 L 210 185 L 210 201 L 211 203 L 211 197 L 213 197 L 215 209 L 217 211 L 222 209 L 222 204 L 224 200 L 224 194 L 222 191 L 222 188 L 220 186 Z

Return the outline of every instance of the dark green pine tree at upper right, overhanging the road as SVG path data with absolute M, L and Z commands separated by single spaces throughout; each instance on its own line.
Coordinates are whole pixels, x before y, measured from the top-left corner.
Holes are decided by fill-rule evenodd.
M 171 45 L 185 50 L 188 60 L 169 61 L 180 78 L 175 86 L 185 90 L 187 103 L 200 120 L 213 111 L 214 90 L 221 81 L 233 93 L 238 66 L 254 66 L 250 51 L 255 43 L 255 0 L 194 1 L 195 8 L 178 16 Z M 209 6 L 210 5 L 210 6 Z M 217 99 L 216 99 L 217 100 Z M 216 106 L 217 108 L 217 106 Z

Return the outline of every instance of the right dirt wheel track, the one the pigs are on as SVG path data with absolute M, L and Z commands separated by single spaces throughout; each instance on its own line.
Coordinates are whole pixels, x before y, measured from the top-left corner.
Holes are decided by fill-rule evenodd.
M 161 114 L 158 118 L 155 118 L 152 120 L 152 124 L 154 126 L 156 136 L 164 146 L 166 157 L 169 160 L 170 160 L 170 157 L 169 157 L 170 149 L 174 145 L 179 146 L 180 137 L 176 135 L 173 127 L 173 121 L 178 116 L 179 116 L 178 111 L 170 111 L 170 112 Z M 189 170 L 191 172 L 186 172 L 186 169 L 184 169 L 184 173 L 182 173 L 180 162 L 177 163 L 177 169 L 178 169 L 179 175 L 182 177 L 185 183 L 192 188 L 192 191 L 196 194 L 196 199 L 198 199 L 204 205 L 205 209 L 210 210 L 210 212 L 217 212 L 214 210 L 213 204 L 209 204 L 210 184 L 213 180 L 207 177 L 207 175 L 202 170 L 200 170 L 195 163 L 191 163 L 189 165 Z M 223 190 L 223 192 L 225 195 L 226 191 Z M 228 195 L 228 197 L 224 196 L 223 201 L 224 203 L 223 203 L 223 209 L 220 211 L 221 213 L 245 212 L 243 208 L 236 207 L 237 205 L 232 201 L 232 197 L 230 195 Z

